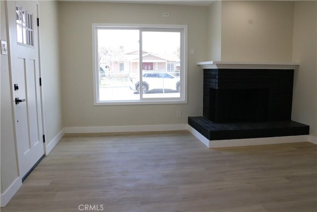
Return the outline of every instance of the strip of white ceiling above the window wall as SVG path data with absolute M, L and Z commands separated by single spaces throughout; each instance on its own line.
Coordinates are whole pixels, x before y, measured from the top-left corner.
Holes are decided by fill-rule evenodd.
M 209 6 L 214 0 L 60 0 L 60 1 L 95 1 L 109 3 L 151 3 L 191 6 Z

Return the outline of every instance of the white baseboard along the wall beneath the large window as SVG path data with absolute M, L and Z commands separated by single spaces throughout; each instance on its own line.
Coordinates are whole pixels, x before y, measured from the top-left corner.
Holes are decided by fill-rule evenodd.
M 64 129 L 65 129 L 65 134 L 178 131 L 178 130 L 187 130 L 187 124 L 134 125 L 134 126 L 110 126 L 110 127 L 65 127 Z

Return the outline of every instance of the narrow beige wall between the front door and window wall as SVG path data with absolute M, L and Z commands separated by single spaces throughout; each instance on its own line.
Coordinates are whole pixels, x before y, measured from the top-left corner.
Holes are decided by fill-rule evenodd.
M 40 57 L 45 117 L 44 126 L 46 141 L 49 143 L 63 128 L 59 63 L 58 2 L 52 0 L 40 1 L 40 17 Z

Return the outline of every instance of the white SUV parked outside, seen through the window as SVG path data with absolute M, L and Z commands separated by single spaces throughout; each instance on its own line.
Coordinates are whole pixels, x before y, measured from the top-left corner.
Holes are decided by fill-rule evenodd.
M 139 76 L 129 77 L 132 85 L 130 89 L 140 92 L 140 81 Z M 162 71 L 143 71 L 143 83 L 142 91 L 143 93 L 148 92 L 153 89 L 162 89 L 167 92 L 179 92 L 180 91 L 180 80 L 170 73 Z

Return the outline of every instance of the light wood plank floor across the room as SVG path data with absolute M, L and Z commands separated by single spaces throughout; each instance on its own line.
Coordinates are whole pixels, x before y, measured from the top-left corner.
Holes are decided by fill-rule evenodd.
M 105 212 L 316 212 L 317 146 L 209 149 L 188 132 L 63 138 L 1 212 L 79 212 L 85 204 Z

